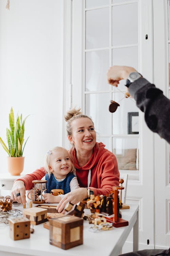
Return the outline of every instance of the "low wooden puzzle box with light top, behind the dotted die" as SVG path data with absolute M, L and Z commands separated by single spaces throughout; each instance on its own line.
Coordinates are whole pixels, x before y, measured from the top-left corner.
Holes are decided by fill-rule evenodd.
M 28 218 L 31 224 L 38 225 L 47 221 L 47 209 L 38 207 L 28 208 L 23 210 L 23 217 Z

